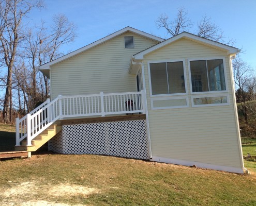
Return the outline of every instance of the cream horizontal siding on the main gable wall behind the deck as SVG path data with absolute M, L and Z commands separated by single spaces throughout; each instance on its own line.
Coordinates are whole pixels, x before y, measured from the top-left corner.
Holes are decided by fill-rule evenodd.
M 134 36 L 134 48 L 124 48 L 124 37 Z M 157 42 L 126 32 L 51 67 L 51 98 L 57 95 L 137 91 L 128 74 L 131 56 Z

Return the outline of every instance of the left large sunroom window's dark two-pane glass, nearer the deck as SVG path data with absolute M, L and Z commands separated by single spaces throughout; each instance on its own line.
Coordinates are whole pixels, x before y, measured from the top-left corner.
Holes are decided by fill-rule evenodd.
M 150 63 L 152 95 L 185 93 L 183 61 Z

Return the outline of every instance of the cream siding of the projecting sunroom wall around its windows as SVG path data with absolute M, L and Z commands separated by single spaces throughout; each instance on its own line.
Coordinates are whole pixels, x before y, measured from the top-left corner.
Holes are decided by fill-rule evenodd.
M 189 58 L 225 57 L 229 106 L 191 107 Z M 189 107 L 151 110 L 148 61 L 185 60 Z M 229 57 L 222 51 L 181 39 L 144 57 L 152 155 L 185 161 L 243 167 L 232 96 Z M 221 94 L 221 93 L 220 93 Z M 221 94 L 222 95 L 222 94 Z

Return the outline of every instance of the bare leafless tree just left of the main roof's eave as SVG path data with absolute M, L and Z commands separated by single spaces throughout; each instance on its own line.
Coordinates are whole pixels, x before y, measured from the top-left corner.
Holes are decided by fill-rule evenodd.
M 36 29 L 35 29 L 36 28 Z M 59 48 L 64 44 L 70 43 L 76 37 L 76 26 L 66 18 L 64 14 L 58 14 L 53 17 L 53 25 L 48 30 L 41 22 L 39 27 L 34 30 L 30 29 L 28 38 L 26 39 L 25 51 L 26 58 L 29 60 L 29 65 L 32 70 L 32 85 L 34 105 L 39 100 L 37 97 L 37 82 L 40 82 L 42 91 L 42 82 L 44 80 L 45 95 L 41 95 L 40 101 L 49 97 L 49 79 L 47 76 L 38 73 L 38 65 L 52 61 L 63 54 L 59 52 Z

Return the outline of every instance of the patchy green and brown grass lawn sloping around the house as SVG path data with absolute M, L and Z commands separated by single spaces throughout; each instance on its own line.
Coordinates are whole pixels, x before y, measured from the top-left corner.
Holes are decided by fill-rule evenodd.
M 15 140 L 13 126 L 0 125 L 0 130 L 0 145 Z M 255 142 L 248 140 L 243 150 L 255 155 Z M 256 162 L 245 164 L 252 170 Z M 117 157 L 38 153 L 1 161 L 0 174 L 0 205 L 256 205 L 253 170 L 246 176 Z

